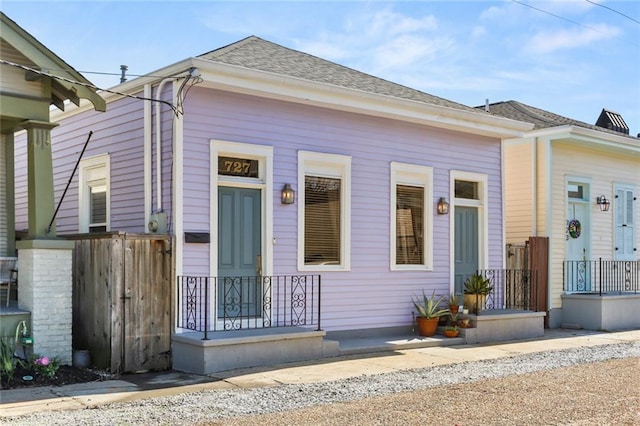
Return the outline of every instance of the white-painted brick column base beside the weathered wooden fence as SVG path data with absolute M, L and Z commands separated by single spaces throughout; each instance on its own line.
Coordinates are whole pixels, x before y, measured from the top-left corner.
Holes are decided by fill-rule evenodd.
M 16 243 L 18 307 L 31 312 L 33 352 L 72 362 L 73 241 L 23 240 Z

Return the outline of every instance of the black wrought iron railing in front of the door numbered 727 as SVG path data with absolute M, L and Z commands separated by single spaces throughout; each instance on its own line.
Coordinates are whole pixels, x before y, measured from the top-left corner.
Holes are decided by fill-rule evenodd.
M 320 330 L 320 275 L 178 276 L 179 328 L 204 332 L 309 327 Z

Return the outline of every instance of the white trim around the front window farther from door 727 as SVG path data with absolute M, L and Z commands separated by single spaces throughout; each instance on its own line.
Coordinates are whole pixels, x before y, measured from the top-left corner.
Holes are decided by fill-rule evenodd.
M 424 238 L 422 247 L 424 259 L 422 264 L 404 265 L 396 263 L 396 225 L 397 225 L 397 187 L 409 185 L 424 188 L 423 224 Z M 390 268 L 392 271 L 431 271 L 433 270 L 433 167 L 418 166 L 406 163 L 391 163 L 391 191 L 389 199 L 390 211 Z

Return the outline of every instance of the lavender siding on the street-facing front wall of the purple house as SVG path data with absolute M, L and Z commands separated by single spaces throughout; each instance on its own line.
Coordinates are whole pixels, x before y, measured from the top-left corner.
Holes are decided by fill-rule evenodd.
M 210 231 L 209 211 L 217 203 L 208 199 L 210 173 L 217 167 L 205 161 L 210 140 L 274 147 L 271 196 L 276 275 L 297 273 L 297 208 L 284 206 L 279 200 L 284 183 L 297 182 L 297 152 L 352 157 L 351 270 L 318 272 L 322 275 L 326 330 L 409 326 L 412 297 L 423 289 L 449 293 L 452 215 L 433 218 L 433 271 L 390 271 L 391 161 L 433 167 L 434 204 L 441 196 L 450 198 L 450 170 L 488 174 L 489 267 L 502 266 L 498 139 L 202 88 L 189 92 L 185 108 L 185 230 Z M 185 244 L 185 274 L 208 272 L 208 252 L 203 246 Z

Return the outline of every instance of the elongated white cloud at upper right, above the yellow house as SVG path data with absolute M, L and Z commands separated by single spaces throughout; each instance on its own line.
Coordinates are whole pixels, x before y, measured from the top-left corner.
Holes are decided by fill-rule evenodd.
M 590 28 L 539 32 L 527 43 L 527 53 L 544 54 L 560 49 L 587 46 L 595 41 L 607 40 L 620 34 L 620 30 L 606 24 L 591 25 Z

